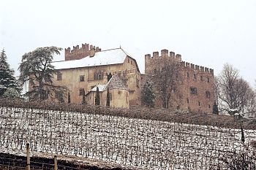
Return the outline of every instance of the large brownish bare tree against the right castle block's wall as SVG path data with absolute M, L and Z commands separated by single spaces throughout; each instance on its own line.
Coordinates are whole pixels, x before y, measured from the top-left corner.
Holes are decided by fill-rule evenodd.
M 156 95 L 162 100 L 162 107 L 169 108 L 172 102 L 178 98 L 178 85 L 182 83 L 180 72 L 180 62 L 174 61 L 171 58 L 163 57 L 159 59 L 158 67 L 154 69 L 151 75 L 151 80 L 156 88 Z M 173 99 L 173 100 L 172 100 Z M 179 102 L 179 101 L 176 101 Z

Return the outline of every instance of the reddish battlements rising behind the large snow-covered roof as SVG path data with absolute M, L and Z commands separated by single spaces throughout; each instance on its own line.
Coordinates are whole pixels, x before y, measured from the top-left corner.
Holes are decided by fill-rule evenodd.
M 79 45 L 73 46 L 73 49 L 71 50 L 70 47 L 65 48 L 65 61 L 70 60 L 78 60 L 81 58 L 85 58 L 90 53 L 89 51 L 94 48 L 95 52 L 101 51 L 101 48 L 94 47 L 94 45 L 89 45 L 87 43 L 82 44 L 82 47 L 79 47 Z

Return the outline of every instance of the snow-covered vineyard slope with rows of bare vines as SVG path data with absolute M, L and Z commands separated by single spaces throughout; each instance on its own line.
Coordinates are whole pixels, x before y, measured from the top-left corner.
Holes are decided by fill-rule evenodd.
M 145 169 L 210 169 L 240 152 L 256 131 L 126 117 L 0 108 L 0 152 L 96 158 Z

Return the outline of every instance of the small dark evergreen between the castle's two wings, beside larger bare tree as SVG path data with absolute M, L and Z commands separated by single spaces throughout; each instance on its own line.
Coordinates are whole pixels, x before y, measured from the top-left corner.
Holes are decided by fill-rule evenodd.
M 141 103 L 147 107 L 154 107 L 154 99 L 156 98 L 151 82 L 146 81 L 141 89 Z

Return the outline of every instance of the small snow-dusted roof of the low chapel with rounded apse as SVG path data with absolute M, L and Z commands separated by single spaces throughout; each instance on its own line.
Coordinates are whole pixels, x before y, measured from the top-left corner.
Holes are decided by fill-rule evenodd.
M 91 89 L 91 91 L 97 91 L 97 87 L 99 88 L 99 91 L 105 91 L 105 90 L 112 90 L 112 89 L 121 89 L 121 90 L 127 90 L 124 83 L 121 81 L 121 79 L 115 74 L 111 79 L 108 81 L 105 85 L 96 85 L 94 88 Z M 89 91 L 89 93 L 91 92 Z M 89 94 L 87 93 L 87 94 Z M 86 94 L 86 95 L 87 95 Z

